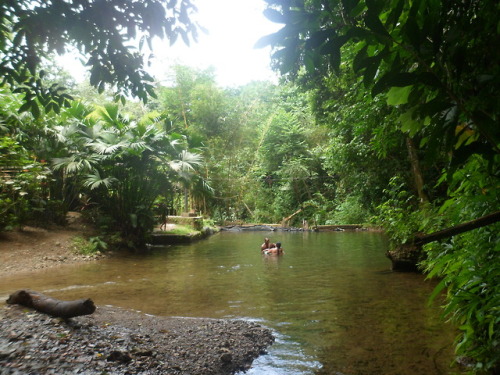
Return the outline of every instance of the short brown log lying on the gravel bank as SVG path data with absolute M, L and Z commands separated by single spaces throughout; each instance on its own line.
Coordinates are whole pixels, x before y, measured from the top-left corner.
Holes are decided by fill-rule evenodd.
M 96 309 L 94 302 L 90 298 L 75 301 L 61 301 L 27 289 L 18 290 L 12 293 L 7 299 L 7 303 L 30 307 L 45 314 L 63 319 L 90 315 Z

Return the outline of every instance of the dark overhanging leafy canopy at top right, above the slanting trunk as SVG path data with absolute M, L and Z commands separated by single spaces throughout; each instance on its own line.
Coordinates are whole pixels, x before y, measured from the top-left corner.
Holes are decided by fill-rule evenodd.
M 275 48 L 289 75 L 340 72 L 347 54 L 373 96 L 400 108 L 401 129 L 419 134 L 428 156 L 445 148 L 452 162 L 500 144 L 500 24 L 489 0 L 267 0 L 284 27 L 259 45 Z M 352 53 L 351 52 L 351 53 Z

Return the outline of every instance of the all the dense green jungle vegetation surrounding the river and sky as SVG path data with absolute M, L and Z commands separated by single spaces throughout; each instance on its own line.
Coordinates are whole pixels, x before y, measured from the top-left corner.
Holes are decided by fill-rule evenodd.
M 95 57 L 110 56 L 96 42 L 98 91 L 40 74 L 33 51 L 86 51 L 108 29 L 79 40 L 55 27 L 40 39 L 27 20 L 75 9 L 50 2 L 37 13 L 24 3 L 0 5 L 1 230 L 63 223 L 80 210 L 100 229 L 90 246 L 140 248 L 167 210 L 194 209 L 219 224 L 373 223 L 399 245 L 500 208 L 494 1 L 268 0 L 266 14 L 284 27 L 260 44 L 275 48 L 280 85 L 226 89 L 211 70 L 177 66 L 154 87 Z M 122 42 L 142 28 L 134 25 L 118 33 Z M 116 48 L 136 69 L 123 43 Z M 111 101 L 147 93 L 147 104 Z M 461 331 L 458 355 L 478 374 L 500 362 L 499 233 L 491 224 L 421 256 Z

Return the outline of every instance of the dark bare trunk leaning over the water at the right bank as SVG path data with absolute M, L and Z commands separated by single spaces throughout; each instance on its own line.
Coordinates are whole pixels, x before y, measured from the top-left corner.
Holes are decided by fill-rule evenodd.
M 394 271 L 418 271 L 418 263 L 424 259 L 422 246 L 426 243 L 452 237 L 460 233 L 496 223 L 497 221 L 500 221 L 500 211 L 438 232 L 416 235 L 412 241 L 388 251 L 386 255 L 391 260 L 392 269 Z

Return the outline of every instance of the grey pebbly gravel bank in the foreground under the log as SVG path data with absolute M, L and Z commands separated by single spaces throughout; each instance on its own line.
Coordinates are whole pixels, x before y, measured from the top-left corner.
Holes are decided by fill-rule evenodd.
M 0 307 L 0 374 L 234 374 L 274 338 L 252 322 L 144 315 L 99 306 L 63 321 Z

